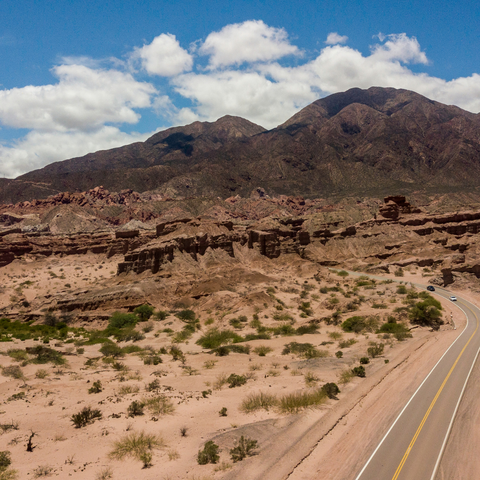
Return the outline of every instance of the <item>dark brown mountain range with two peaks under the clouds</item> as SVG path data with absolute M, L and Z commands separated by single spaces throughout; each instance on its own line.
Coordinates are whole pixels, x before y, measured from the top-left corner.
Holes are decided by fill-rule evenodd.
M 238 117 L 195 122 L 5 181 L 3 202 L 104 185 L 172 196 L 384 195 L 480 186 L 480 116 L 407 90 L 354 88 L 266 131 Z

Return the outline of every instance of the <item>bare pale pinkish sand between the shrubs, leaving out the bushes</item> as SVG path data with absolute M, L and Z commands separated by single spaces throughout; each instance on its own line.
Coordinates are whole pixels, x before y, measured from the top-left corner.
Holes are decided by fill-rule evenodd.
M 75 287 L 93 285 L 112 275 L 114 270 L 114 260 L 109 262 L 105 259 L 105 263 L 100 263 L 103 266 L 101 269 L 98 261 L 90 264 L 85 258 L 81 260 L 79 262 L 79 259 L 69 257 L 49 258 L 42 260 L 42 263 L 14 262 L 0 272 L 4 282 L 1 301 L 8 303 L 10 299 L 5 297 L 13 295 L 12 292 L 27 280 L 32 283 L 24 285 L 22 293 L 29 301 L 34 301 L 36 295 L 53 288 L 70 288 L 65 283 L 72 285 L 77 282 Z M 51 271 L 55 277 L 48 273 Z M 420 281 L 420 278 L 419 275 L 412 275 L 403 280 Z M 304 281 L 312 281 L 308 269 L 303 277 L 285 274 L 282 288 L 275 291 L 276 298 L 286 305 L 288 311 L 295 312 L 296 326 L 306 321 L 293 308 L 295 302 L 300 300 L 298 288 Z M 341 282 L 347 289 L 349 281 L 339 280 L 327 272 L 322 284 Z M 296 285 L 296 293 L 289 291 L 288 287 L 292 285 Z M 318 286 L 315 284 L 315 291 Z M 264 292 L 266 287 L 259 286 L 258 292 Z M 395 288 L 396 284 L 381 285 L 381 288 L 362 292 L 372 301 L 374 298 L 388 298 L 388 310 L 379 312 L 371 307 L 371 302 L 367 302 L 363 310 L 352 315 L 381 314 L 384 317 L 401 304 L 390 303 L 396 298 Z M 380 296 L 378 290 L 382 291 Z M 233 294 L 227 292 L 225 295 Z M 239 295 L 238 290 L 235 295 Z M 263 299 L 262 296 L 259 298 Z M 309 298 L 312 299 L 314 310 L 321 312 L 324 298 L 314 300 L 313 295 Z M 215 318 L 215 326 L 228 326 L 229 318 L 234 315 L 244 313 L 251 318 L 255 307 L 258 308 L 254 302 L 241 304 L 239 300 L 235 301 L 239 307 L 229 315 Z M 262 304 L 259 316 L 266 325 L 273 325 L 275 308 L 265 305 Z M 207 306 L 208 303 L 205 303 L 204 310 L 200 311 L 203 330 L 207 328 L 204 324 Z M 445 302 L 445 307 L 450 308 L 448 302 Z M 328 400 L 321 408 L 299 415 L 283 415 L 275 409 L 247 414 L 240 411 L 239 407 L 252 392 L 282 395 L 305 391 L 306 372 L 312 372 L 318 378 L 315 383 L 319 386 L 326 382 L 338 383 L 342 371 L 357 365 L 358 359 L 365 356 L 369 342 L 379 341 L 377 335 L 343 333 L 339 327 L 322 324 L 317 334 L 250 341 L 250 355 L 231 353 L 226 357 L 216 357 L 195 344 L 201 334 L 199 332 L 188 343 L 179 345 L 186 354 L 185 365 L 174 361 L 169 355 L 162 355 L 163 363 L 160 365 L 144 365 L 138 355 L 130 354 L 121 359 L 128 369 L 124 372 L 114 370 L 101 359 L 93 366 L 85 365 L 87 359 L 101 357 L 99 345 L 85 346 L 82 352 L 73 344 L 51 344 L 64 352 L 68 366 L 28 364 L 22 367 L 25 382 L 0 376 L 0 424 L 15 427 L 3 434 L 0 432 L 0 440 L 4 445 L 2 449 L 11 452 L 14 460 L 12 466 L 18 470 L 19 478 L 35 478 L 39 467 L 45 467 L 45 472 L 50 469 L 51 476 L 79 480 L 277 479 L 285 478 L 289 473 L 289 478 L 295 480 L 352 478 L 351 472 L 364 460 L 368 446 L 381 437 L 396 412 L 461 331 L 462 317 L 455 311 L 453 314 L 458 330 L 453 331 L 448 325 L 434 333 L 418 328 L 413 330 L 413 339 L 405 342 L 384 340 L 385 353 L 372 359 L 366 366 L 367 378 L 356 377 L 340 385 L 338 400 Z M 171 335 L 162 331 L 165 326 L 178 329 L 181 322 L 173 316 L 165 322 L 155 322 L 154 330 L 137 344 L 140 347 L 152 347 L 156 351 L 168 347 L 171 345 Z M 339 349 L 338 342 L 348 339 L 354 339 L 356 343 L 342 349 L 343 358 L 336 358 L 334 353 Z M 328 356 L 306 360 L 294 355 L 282 355 L 284 345 L 291 341 L 312 343 L 318 349 L 326 350 Z M 0 344 L 0 352 L 6 353 L 12 348 L 23 349 L 33 344 L 31 340 L 3 343 Z M 268 345 L 272 351 L 260 357 L 253 353 L 253 349 L 259 345 Z M 206 362 L 211 360 L 216 363 L 212 368 L 207 368 Z M 8 355 L 0 355 L 0 365 L 5 367 L 18 363 Z M 40 368 L 48 372 L 44 379 L 36 376 Z M 231 373 L 250 378 L 242 387 L 228 388 L 223 385 L 215 388 L 215 383 L 222 375 Z M 160 380 L 158 391 L 147 392 L 146 386 L 156 378 Z M 103 390 L 89 394 L 88 389 L 95 381 L 101 381 Z M 125 393 L 126 386 L 138 388 L 138 391 Z M 147 412 L 142 416 L 128 416 L 127 409 L 132 401 L 159 394 L 170 399 L 174 412 L 158 416 Z M 71 416 L 85 406 L 100 409 L 102 419 L 84 428 L 75 428 Z M 219 414 L 223 407 L 227 408 L 227 416 Z M 181 434 L 183 428 L 186 429 L 185 436 Z M 128 433 L 142 431 L 161 436 L 165 443 L 163 448 L 154 451 L 150 468 L 142 469 L 142 463 L 136 459 L 119 461 L 109 458 L 116 440 Z M 26 443 L 32 432 L 35 433 L 32 439 L 35 448 L 33 452 L 27 452 Z M 229 449 L 240 435 L 257 439 L 259 454 L 232 465 Z M 212 438 L 221 448 L 221 462 L 218 465 L 200 466 L 196 459 L 197 452 Z M 288 455 L 282 453 L 285 450 L 289 451 Z M 295 465 L 297 467 L 292 472 Z M 105 469 L 110 469 L 112 476 L 105 474 L 102 477 Z

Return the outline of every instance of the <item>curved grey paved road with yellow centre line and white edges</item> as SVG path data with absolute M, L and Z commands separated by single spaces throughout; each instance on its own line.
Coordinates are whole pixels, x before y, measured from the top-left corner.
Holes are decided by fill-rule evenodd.
M 423 285 L 416 285 L 425 288 Z M 436 287 L 444 298 L 451 293 Z M 480 351 L 480 310 L 458 297 L 467 316 L 452 343 L 399 414 L 355 480 L 433 480 L 446 440 Z

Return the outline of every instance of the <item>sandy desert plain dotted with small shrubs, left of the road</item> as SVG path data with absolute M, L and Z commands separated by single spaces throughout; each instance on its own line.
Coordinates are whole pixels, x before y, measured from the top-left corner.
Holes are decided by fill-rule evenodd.
M 88 255 L 15 260 L 0 269 L 1 305 L 122 281 L 115 280 L 119 260 L 99 255 L 94 261 Z M 163 315 L 139 322 L 136 341 L 112 342 L 127 347 L 118 355 L 102 354 L 102 343 L 88 341 L 88 332 L 105 328 L 107 320 L 69 319 L 74 328 L 48 344 L 41 338 L 3 341 L 1 450 L 10 452 L 7 472 L 17 472 L 5 478 L 351 478 L 348 472 L 364 459 L 364 447 L 387 428 L 461 332 L 461 312 L 446 301 L 439 330 L 409 323 L 402 310 L 407 294 L 398 293 L 398 282 L 418 293 L 410 282 L 427 283 L 428 271 L 412 266 L 401 278 L 372 282 L 298 257 L 263 260 L 252 282 L 240 276 L 235 287 L 190 305 L 168 297 L 151 302 Z M 372 325 L 344 331 L 335 322 L 339 307 L 349 312 L 341 321 L 361 316 L 373 319 Z M 179 318 L 185 311 L 194 312 L 193 332 L 185 333 L 186 322 Z M 389 317 L 405 325 L 408 335 L 375 333 Z M 212 328 L 267 335 L 230 343 L 243 353 L 222 355 L 197 343 Z M 292 342 L 310 344 L 310 354 L 286 353 Z M 383 345 L 373 358 L 372 343 Z M 65 363 L 35 363 L 26 349 L 38 345 L 61 352 Z M 351 373 L 361 358 L 368 359 L 365 378 Z M 9 375 L 11 367 L 19 367 L 21 375 Z M 232 374 L 241 377 L 238 385 Z M 332 398 L 292 405 L 292 395 L 298 400 L 329 383 L 340 390 Z M 98 393 L 89 393 L 94 385 Z M 85 407 L 101 417 L 78 427 L 73 416 Z M 130 444 L 118 454 L 118 442 L 149 435 L 147 447 L 135 450 Z M 235 462 L 230 451 L 241 436 L 257 444 L 253 455 Z M 219 459 L 200 465 L 198 453 L 210 440 L 219 447 Z

